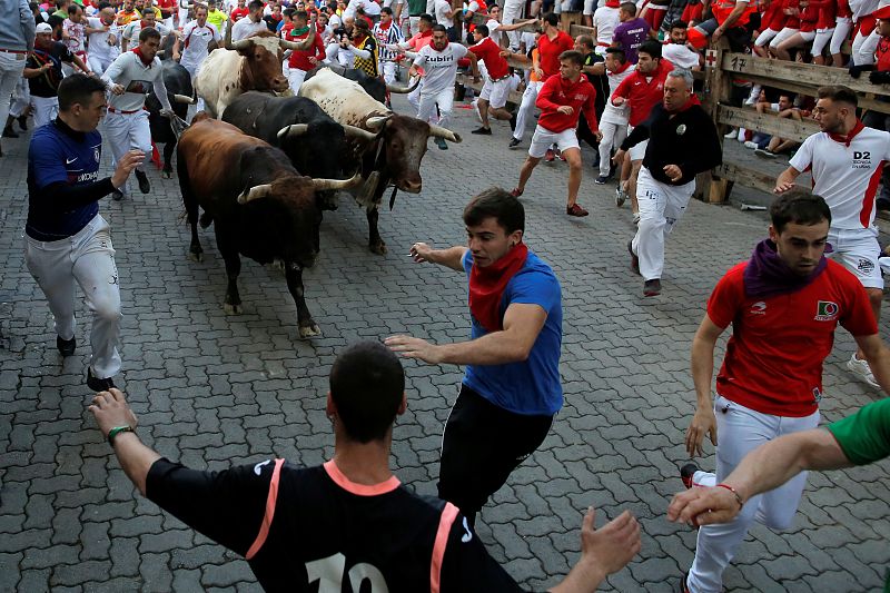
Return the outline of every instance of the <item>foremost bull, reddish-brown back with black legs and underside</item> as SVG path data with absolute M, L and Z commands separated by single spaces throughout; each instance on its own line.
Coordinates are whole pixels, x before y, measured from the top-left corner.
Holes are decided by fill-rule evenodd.
M 303 268 L 310 267 L 318 254 L 322 211 L 315 192 L 348 188 L 359 177 L 304 177 L 280 149 L 204 113 L 196 116 L 179 138 L 176 166 L 191 227 L 189 254 L 194 259 L 200 260 L 204 253 L 198 240 L 198 206 L 205 211 L 201 225 L 214 223 L 228 276 L 226 313 L 241 313 L 237 284 L 241 255 L 259 264 L 280 259 L 297 305 L 299 335 L 318 335 L 303 294 Z

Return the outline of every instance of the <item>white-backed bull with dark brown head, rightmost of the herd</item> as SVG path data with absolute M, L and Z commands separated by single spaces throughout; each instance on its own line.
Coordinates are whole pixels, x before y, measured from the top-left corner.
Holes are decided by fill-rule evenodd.
M 368 248 L 385 254 L 386 244 L 377 230 L 383 194 L 393 186 L 392 208 L 396 191 L 419 194 L 421 160 L 426 152 L 427 139 L 444 138 L 459 142 L 461 137 L 439 126 L 431 126 L 417 118 L 394 113 L 372 98 L 355 81 L 322 69 L 299 88 L 300 97 L 313 99 L 334 120 L 344 126 L 356 126 L 376 134 L 377 140 L 362 157 L 363 187 L 356 199 L 366 209 L 368 218 Z

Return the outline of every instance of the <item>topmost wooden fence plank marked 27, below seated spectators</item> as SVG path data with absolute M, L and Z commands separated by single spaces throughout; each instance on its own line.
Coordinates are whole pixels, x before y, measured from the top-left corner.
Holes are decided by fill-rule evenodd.
M 844 85 L 857 92 L 888 96 L 886 86 L 872 85 L 869 82 L 868 76 L 859 79 L 852 78 L 846 68 L 768 60 L 748 53 L 724 53 L 722 66 L 724 70 L 740 75 L 762 76 L 774 80 L 793 80 L 799 85 L 812 87 L 813 90 L 828 85 Z M 814 95 L 814 92 L 810 92 L 810 95 Z

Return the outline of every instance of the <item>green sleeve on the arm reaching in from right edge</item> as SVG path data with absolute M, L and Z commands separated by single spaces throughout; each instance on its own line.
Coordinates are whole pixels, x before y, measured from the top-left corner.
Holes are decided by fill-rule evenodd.
M 890 456 L 890 398 L 868 404 L 828 429 L 854 465 Z

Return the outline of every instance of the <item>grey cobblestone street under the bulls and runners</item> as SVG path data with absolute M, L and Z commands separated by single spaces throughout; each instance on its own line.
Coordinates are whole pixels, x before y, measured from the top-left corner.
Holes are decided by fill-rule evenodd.
M 395 103 L 407 111 L 402 96 Z M 466 339 L 465 277 L 407 254 L 417 240 L 463 243 L 468 198 L 491 185 L 515 186 L 530 135 L 521 150 L 507 150 L 505 122 L 491 137 L 471 136 L 476 126 L 472 110 L 456 109 L 453 127 L 464 142 L 447 151 L 431 142 L 423 191 L 399 192 L 392 211 L 384 205 L 386 256 L 368 251 L 365 214 L 352 200 L 325 213 L 320 257 L 304 274 L 323 333 L 312 339 L 298 337 L 284 275 L 246 258 L 245 313 L 225 315 L 212 229 L 200 231 L 204 261 L 189 260 L 176 178 L 152 168 L 151 194 L 103 199 L 125 314 L 116 380 L 144 442 L 196 468 L 274 456 L 319 464 L 333 452 L 324 407 L 340 348 L 395 333 Z M 87 412 L 89 312 L 79 300 L 78 350 L 62 362 L 23 261 L 29 137 L 3 139 L 0 159 L 0 591 L 258 591 L 245 561 L 136 493 Z M 577 560 L 589 505 L 597 525 L 627 508 L 641 521 L 643 548 L 605 589 L 675 591 L 695 546 L 694 530 L 665 518 L 682 488 L 678 467 L 689 461 L 690 345 L 711 288 L 748 259 L 767 216 L 693 200 L 668 243 L 664 291 L 644 299 L 642 279 L 629 269 L 630 209 L 615 207 L 613 182 L 594 185 L 592 155 L 584 150 L 578 199 L 590 217 L 565 215 L 567 165 L 558 160 L 542 162 L 522 198 L 525 240 L 562 283 L 565 406 L 542 447 L 483 510 L 477 531 L 516 580 L 541 590 Z M 886 320 L 881 334 L 890 338 Z M 853 347 L 839 330 L 824 369 L 823 421 L 882 396 L 847 372 Z M 435 494 L 442 427 L 462 369 L 411 360 L 405 369 L 409 407 L 395 428 L 394 467 L 403 482 Z M 696 462 L 710 470 L 710 443 L 706 451 Z M 887 462 L 811 475 L 794 526 L 781 534 L 754 527 L 725 573 L 726 589 L 879 590 L 890 563 L 889 501 Z

